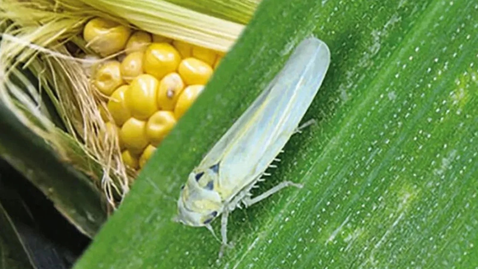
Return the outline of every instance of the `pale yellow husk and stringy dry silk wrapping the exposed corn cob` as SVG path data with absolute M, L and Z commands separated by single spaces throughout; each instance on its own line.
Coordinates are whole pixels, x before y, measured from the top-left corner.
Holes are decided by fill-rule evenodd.
M 0 0 L 0 102 L 61 159 L 89 176 L 116 208 L 136 172 L 122 164 L 116 135 L 102 132 L 106 126 L 98 107 L 106 108 L 104 98 L 91 87 L 85 68 L 106 59 L 80 58 L 71 49 L 94 55 L 81 31 L 98 16 L 221 52 L 244 25 L 162 0 Z M 45 94 L 56 121 L 45 109 Z

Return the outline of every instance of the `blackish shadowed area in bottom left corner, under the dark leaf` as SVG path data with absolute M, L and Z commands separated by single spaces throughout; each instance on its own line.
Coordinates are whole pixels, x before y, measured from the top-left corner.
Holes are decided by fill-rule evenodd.
M 19 269 L 32 268 L 24 263 L 27 260 L 36 269 L 70 268 L 90 241 L 1 158 L 0 227 L 0 256 Z M 8 233 L 9 229 L 16 232 Z

